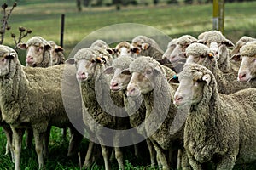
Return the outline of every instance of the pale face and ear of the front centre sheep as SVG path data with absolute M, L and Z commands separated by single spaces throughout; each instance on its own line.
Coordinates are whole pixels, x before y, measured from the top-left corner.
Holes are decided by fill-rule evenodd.
M 157 75 L 158 72 L 151 67 L 143 72 L 132 72 L 131 81 L 127 86 L 127 96 L 137 97 L 154 90 L 153 80 Z

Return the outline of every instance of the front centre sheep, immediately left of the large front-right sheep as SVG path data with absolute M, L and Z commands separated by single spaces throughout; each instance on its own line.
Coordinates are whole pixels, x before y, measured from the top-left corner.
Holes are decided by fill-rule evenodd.
M 143 96 L 146 106 L 144 126 L 147 135 L 154 144 L 163 169 L 169 169 L 166 150 L 171 150 L 171 157 L 175 157 L 173 153 L 177 153 L 177 149 L 183 149 L 183 122 L 179 122 L 181 125 L 177 131 L 170 129 L 176 113 L 179 112 L 172 104 L 171 96 L 175 90 L 167 82 L 163 67 L 155 59 L 139 57 L 131 62 L 129 71 L 131 80 L 126 95 L 132 98 Z M 175 159 L 177 160 L 177 157 Z M 184 162 L 183 168 L 187 167 Z

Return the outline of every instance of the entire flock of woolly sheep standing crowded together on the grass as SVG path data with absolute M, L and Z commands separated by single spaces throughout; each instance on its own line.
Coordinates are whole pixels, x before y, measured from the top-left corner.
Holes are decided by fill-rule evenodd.
M 34 138 L 39 169 L 51 126 L 70 128 L 67 155 L 77 154 L 83 135 L 71 117 L 92 139 L 84 167 L 100 144 L 105 169 L 111 169 L 110 145 L 124 169 L 120 146 L 129 129 L 135 129 L 128 141 L 135 156 L 143 137 L 152 167 L 227 170 L 256 161 L 253 37 L 241 37 L 235 46 L 220 31 L 205 31 L 172 39 L 166 52 L 145 36 L 115 48 L 96 40 L 66 62 L 63 48 L 42 37 L 18 47 L 26 49 L 26 66 L 14 49 L 0 46 L 0 125 L 15 170 L 25 131 L 27 147 Z

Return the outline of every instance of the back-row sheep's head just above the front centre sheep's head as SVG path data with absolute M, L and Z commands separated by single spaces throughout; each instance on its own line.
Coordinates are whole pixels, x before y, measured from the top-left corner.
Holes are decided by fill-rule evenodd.
M 131 40 L 131 45 L 139 49 L 141 56 L 151 56 L 154 59 L 162 59 L 164 51 L 154 39 L 146 36 L 137 36 Z

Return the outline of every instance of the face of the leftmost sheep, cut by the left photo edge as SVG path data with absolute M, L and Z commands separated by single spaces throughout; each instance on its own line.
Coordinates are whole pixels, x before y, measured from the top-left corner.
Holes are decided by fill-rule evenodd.
M 9 74 L 9 65 L 10 60 L 15 59 L 15 53 L 4 53 L 2 57 L 0 57 L 0 76 L 3 77 Z

